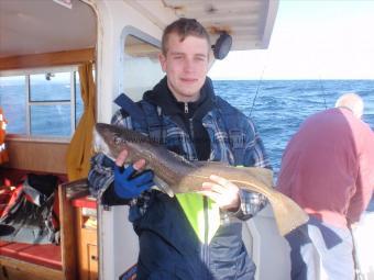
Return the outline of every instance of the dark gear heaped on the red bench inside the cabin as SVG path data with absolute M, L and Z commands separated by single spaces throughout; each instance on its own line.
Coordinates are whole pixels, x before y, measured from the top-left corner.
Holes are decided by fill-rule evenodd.
M 0 225 L 12 228 L 0 237 L 6 242 L 58 244 L 58 178 L 53 175 L 28 173 L 23 182 L 8 188 L 7 206 L 1 211 Z M 4 195 L 2 197 L 4 199 Z

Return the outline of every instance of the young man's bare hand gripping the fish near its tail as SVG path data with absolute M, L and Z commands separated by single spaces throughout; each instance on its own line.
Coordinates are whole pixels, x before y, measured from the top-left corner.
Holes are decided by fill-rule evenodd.
M 199 193 L 210 198 L 220 209 L 237 212 L 240 208 L 239 188 L 227 179 L 211 175 L 213 182 L 202 183 L 202 191 Z

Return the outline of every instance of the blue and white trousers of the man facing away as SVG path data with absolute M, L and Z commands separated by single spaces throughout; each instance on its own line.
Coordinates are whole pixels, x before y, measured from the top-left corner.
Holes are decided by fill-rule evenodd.
M 348 228 L 315 217 L 286 236 L 293 280 L 353 280 L 353 242 Z

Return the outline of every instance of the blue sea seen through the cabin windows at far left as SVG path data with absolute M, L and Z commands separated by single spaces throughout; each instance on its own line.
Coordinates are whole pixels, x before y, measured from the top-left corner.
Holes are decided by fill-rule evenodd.
M 24 77 L 2 80 L 0 77 L 0 105 L 8 121 L 7 131 L 12 134 L 26 134 L 26 89 Z M 82 113 L 82 101 L 79 85 L 76 85 L 76 112 L 74 124 Z M 72 135 L 70 82 L 34 83 L 30 89 L 30 101 L 34 102 L 30 110 L 31 134 L 43 137 L 69 137 Z M 57 102 L 45 105 L 43 102 Z M 74 125 L 73 124 L 73 125 Z

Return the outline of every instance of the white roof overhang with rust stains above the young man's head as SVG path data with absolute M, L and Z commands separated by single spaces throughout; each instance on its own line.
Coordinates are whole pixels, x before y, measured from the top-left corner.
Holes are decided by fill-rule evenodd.
M 162 4 L 177 18 L 198 20 L 210 33 L 212 42 L 227 32 L 233 37 L 233 51 L 266 48 L 273 32 L 278 1 L 274 0 L 162 0 L 130 1 L 139 11 L 147 13 L 163 30 L 169 22 L 157 16 Z

